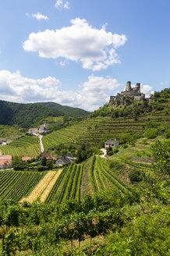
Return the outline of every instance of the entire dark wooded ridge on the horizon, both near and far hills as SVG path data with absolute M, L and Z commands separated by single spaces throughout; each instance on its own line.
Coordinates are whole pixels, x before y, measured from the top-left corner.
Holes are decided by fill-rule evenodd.
M 0 125 L 19 125 L 29 128 L 38 126 L 49 116 L 86 116 L 87 114 L 89 112 L 83 109 L 66 107 L 53 102 L 23 104 L 0 100 Z

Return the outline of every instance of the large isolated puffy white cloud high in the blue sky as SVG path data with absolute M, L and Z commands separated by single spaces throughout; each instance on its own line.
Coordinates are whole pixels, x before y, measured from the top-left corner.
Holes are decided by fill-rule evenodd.
M 60 0 L 62 1 L 62 0 Z M 72 25 L 60 30 L 31 33 L 23 43 L 27 52 L 38 52 L 43 58 L 63 58 L 81 62 L 84 69 L 106 69 L 120 63 L 116 48 L 126 43 L 125 34 L 106 32 L 105 27 L 94 28 L 87 20 L 76 18 Z

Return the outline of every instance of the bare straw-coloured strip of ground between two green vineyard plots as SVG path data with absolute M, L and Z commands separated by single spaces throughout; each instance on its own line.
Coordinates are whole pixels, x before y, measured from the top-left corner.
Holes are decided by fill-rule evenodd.
M 30 195 L 28 197 L 23 197 L 20 202 L 28 201 L 29 203 L 32 203 L 37 200 L 38 197 L 40 197 L 41 201 L 45 201 L 61 172 L 62 169 L 59 169 L 58 172 L 49 171 L 37 184 L 37 187 L 34 188 Z

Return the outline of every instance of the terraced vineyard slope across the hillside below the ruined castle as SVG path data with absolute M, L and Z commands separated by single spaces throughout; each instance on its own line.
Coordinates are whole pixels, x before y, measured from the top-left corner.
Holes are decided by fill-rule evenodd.
M 139 116 L 137 120 L 133 118 L 94 117 L 82 120 L 73 126 L 68 126 L 57 132 L 43 137 L 45 150 L 54 148 L 58 144 L 87 144 L 99 146 L 101 142 L 108 138 L 118 137 L 121 133 L 142 133 L 148 122 L 157 127 L 161 124 L 169 124 L 170 117 L 167 112 L 155 112 L 151 115 Z

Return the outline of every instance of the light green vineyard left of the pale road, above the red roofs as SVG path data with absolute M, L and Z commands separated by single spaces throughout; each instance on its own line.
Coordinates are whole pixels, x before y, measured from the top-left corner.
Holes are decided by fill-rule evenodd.
M 0 146 L 2 155 L 37 156 L 40 154 L 40 140 L 37 137 L 25 136 L 11 143 Z

